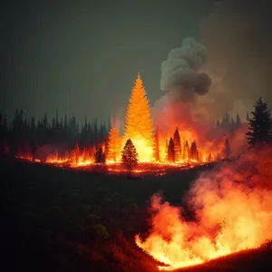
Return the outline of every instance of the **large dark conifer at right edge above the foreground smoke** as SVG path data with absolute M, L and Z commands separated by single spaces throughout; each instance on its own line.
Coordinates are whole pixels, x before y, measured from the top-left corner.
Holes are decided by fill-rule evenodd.
M 252 118 L 248 120 L 248 144 L 254 147 L 257 144 L 272 142 L 272 118 L 271 112 L 267 108 L 267 103 L 261 98 L 254 104 L 254 112 L 251 112 Z

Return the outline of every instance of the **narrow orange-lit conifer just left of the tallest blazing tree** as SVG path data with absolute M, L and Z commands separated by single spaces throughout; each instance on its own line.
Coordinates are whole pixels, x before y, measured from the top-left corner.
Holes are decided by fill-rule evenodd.
M 121 138 L 116 127 L 116 119 L 113 117 L 113 125 L 110 131 L 107 147 L 107 161 L 116 161 L 121 158 Z

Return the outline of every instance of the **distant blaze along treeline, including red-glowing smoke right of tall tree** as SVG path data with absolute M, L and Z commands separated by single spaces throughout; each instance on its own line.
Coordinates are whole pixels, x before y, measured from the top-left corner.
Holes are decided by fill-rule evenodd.
M 138 74 L 131 91 L 123 136 L 120 136 L 114 118 L 108 139 L 96 147 L 80 148 L 76 143 L 73 151 L 65 153 L 58 150 L 43 153 L 46 147 L 37 147 L 35 154 L 32 154 L 29 144 L 25 141 L 24 152 L 18 148 L 17 158 L 73 168 L 91 166 L 95 163 L 96 151 L 102 146 L 106 165 L 120 164 L 121 151 L 126 141 L 131 139 L 140 163 L 149 162 L 158 166 L 188 166 L 188 164 L 196 165 L 226 159 L 223 155 L 225 135 L 219 137 L 221 140 L 207 141 L 204 136 L 207 128 L 203 129 L 201 125 L 194 125 L 191 117 L 188 117 L 190 109 L 186 104 L 171 104 L 166 110 L 157 114 L 155 122 L 160 123 L 160 126 L 157 125 L 155 130 L 146 91 Z M 177 112 L 180 112 L 182 118 L 184 117 L 183 120 L 180 117 L 177 119 Z M 174 143 L 172 149 L 176 153 L 174 159 L 170 156 L 170 138 Z M 136 170 L 141 169 L 137 167 Z

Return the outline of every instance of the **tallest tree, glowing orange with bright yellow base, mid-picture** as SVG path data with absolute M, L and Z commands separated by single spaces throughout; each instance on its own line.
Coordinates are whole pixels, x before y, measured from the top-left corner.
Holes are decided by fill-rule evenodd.
M 126 113 L 124 141 L 131 139 L 139 154 L 139 160 L 152 160 L 153 124 L 151 108 L 140 73 L 131 92 Z

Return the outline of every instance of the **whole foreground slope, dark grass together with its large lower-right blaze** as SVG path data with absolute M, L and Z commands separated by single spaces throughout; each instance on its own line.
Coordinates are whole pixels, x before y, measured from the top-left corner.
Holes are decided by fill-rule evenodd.
M 154 272 L 258 247 L 271 238 L 270 165 L 259 151 L 240 162 L 128 180 L 2 160 L 6 260 L 15 271 Z M 158 189 L 163 199 L 153 197 L 147 209 Z M 136 233 L 160 262 L 137 247 Z M 184 271 L 269 271 L 268 256 L 269 247 L 255 248 Z

